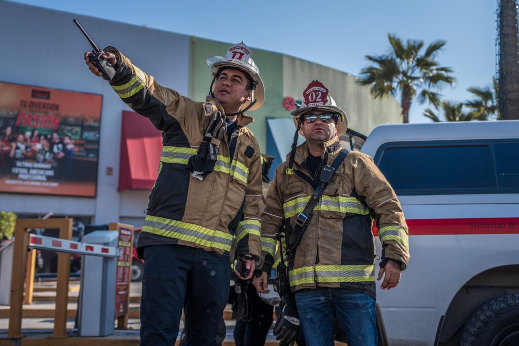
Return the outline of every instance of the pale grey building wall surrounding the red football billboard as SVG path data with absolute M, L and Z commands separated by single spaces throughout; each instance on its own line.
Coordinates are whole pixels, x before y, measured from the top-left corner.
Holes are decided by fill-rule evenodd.
M 149 192 L 117 192 L 121 114 L 129 108 L 88 71 L 83 54 L 91 48 L 74 18 L 100 48 L 118 48 L 161 84 L 187 95 L 189 36 L 0 1 L 0 81 L 103 95 L 97 197 L 0 193 L 0 210 L 92 215 L 97 224 L 143 218 Z

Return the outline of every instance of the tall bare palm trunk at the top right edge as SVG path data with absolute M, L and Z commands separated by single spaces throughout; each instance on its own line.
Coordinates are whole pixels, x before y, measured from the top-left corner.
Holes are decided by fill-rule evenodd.
M 501 119 L 519 119 L 519 37 L 517 2 L 500 0 L 499 110 Z

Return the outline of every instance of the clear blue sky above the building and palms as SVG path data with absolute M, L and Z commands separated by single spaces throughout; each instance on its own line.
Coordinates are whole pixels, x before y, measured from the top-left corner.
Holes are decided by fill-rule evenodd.
M 388 33 L 426 44 L 444 39 L 437 60 L 457 79 L 442 90 L 445 100 L 466 101 L 467 88 L 489 85 L 496 71 L 496 0 L 16 2 L 229 43 L 245 40 L 352 75 L 366 66 L 366 54 L 387 51 Z M 414 102 L 410 121 L 428 122 L 426 107 Z

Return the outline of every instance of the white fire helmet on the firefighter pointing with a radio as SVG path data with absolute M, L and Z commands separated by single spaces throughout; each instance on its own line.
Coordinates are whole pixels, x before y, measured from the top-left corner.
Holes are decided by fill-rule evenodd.
M 213 76 L 213 81 L 209 90 L 210 96 L 213 95 L 214 81 L 217 77 L 218 71 L 225 66 L 238 68 L 243 73 L 248 74 L 252 79 L 252 105 L 251 101 L 246 101 L 242 106 L 242 112 L 245 112 L 245 110 L 260 109 L 265 102 L 265 87 L 260 77 L 260 70 L 252 60 L 251 54 L 252 52 L 250 48 L 242 41 L 237 45 L 231 46 L 227 50 L 225 57 L 211 57 L 207 59 L 207 64 L 211 67 L 211 75 Z

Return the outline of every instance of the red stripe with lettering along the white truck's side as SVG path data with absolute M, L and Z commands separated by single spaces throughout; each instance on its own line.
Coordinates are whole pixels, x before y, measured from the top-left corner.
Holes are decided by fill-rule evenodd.
M 514 234 L 519 233 L 519 217 L 487 217 L 462 219 L 406 220 L 410 236 L 440 236 L 448 234 Z M 373 224 L 373 235 L 378 228 Z

